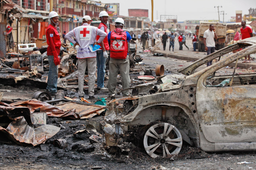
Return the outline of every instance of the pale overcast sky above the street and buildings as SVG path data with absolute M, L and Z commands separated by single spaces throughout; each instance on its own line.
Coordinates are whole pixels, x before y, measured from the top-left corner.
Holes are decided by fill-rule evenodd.
M 119 3 L 120 15 L 128 16 L 128 9 L 148 9 L 151 20 L 151 0 L 101 0 L 102 3 Z M 214 6 L 216 6 L 214 8 Z M 242 10 L 242 16 L 249 14 L 250 8 L 256 9 L 256 0 L 154 0 L 154 21 L 160 15 L 177 15 L 178 21 L 184 20 L 218 20 L 219 11 L 224 11 L 224 21 L 235 16 L 236 10 Z M 222 12 L 223 13 L 223 12 Z M 223 15 L 220 14 L 223 21 Z

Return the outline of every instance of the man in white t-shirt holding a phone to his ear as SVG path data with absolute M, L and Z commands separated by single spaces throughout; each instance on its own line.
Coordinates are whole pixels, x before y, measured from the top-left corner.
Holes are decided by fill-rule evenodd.
M 207 51 L 207 55 L 214 53 L 215 51 L 215 41 L 218 39 L 216 34 L 216 29 L 213 24 L 210 24 L 209 29 L 203 33 L 203 44 L 204 50 Z M 212 65 L 212 61 L 207 62 L 207 67 Z

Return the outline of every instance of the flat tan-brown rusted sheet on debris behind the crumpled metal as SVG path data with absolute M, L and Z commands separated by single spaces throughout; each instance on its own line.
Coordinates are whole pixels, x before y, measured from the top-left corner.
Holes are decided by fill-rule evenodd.
M 78 112 L 80 117 L 87 116 L 92 113 L 96 113 L 99 110 L 105 109 L 105 106 L 101 105 L 90 105 L 88 103 L 75 103 L 75 102 L 67 102 L 59 105 L 55 105 L 58 108 L 68 111 L 70 109 L 75 108 L 75 111 Z

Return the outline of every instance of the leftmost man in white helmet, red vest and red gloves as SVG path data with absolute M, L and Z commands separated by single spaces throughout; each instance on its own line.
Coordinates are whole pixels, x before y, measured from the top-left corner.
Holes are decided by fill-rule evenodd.
M 56 30 L 56 25 L 59 24 L 58 13 L 51 11 L 49 13 L 49 19 L 51 23 L 48 25 L 45 35 L 47 40 L 47 58 L 49 61 L 49 72 L 46 91 L 55 96 L 57 92 L 57 81 L 58 81 L 58 65 L 60 64 L 60 35 Z

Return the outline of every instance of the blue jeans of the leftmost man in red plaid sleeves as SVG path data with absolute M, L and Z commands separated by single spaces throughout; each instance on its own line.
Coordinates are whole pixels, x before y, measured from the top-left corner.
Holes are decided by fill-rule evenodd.
M 53 55 L 48 55 L 47 58 L 49 61 L 49 72 L 46 89 L 51 93 L 56 93 L 58 82 L 58 65 L 54 64 Z

